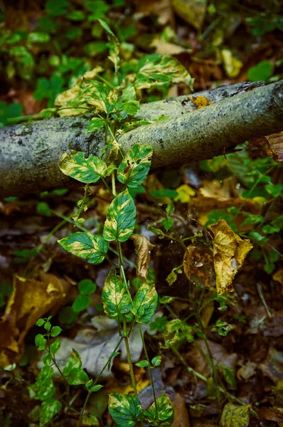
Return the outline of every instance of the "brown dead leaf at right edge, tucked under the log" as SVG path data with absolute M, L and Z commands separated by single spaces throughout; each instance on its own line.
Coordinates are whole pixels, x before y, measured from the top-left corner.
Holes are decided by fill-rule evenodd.
M 266 137 L 249 140 L 253 157 L 272 157 L 276 162 L 283 162 L 283 131 Z

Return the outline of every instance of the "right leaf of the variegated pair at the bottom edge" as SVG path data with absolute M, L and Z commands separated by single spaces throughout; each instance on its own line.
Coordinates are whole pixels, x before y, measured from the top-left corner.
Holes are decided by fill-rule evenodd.
M 144 409 L 143 415 L 146 421 L 151 426 L 169 427 L 174 421 L 174 408 L 171 404 L 169 397 L 165 394 L 156 399 L 156 405 L 158 409 L 158 419 L 156 414 L 155 403 L 153 403 L 149 409 Z

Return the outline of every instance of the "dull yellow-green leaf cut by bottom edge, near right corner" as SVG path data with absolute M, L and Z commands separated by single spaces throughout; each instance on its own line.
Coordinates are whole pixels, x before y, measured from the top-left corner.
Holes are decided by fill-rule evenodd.
M 225 405 L 220 420 L 221 427 L 247 427 L 250 423 L 251 405 L 237 406 L 233 404 Z

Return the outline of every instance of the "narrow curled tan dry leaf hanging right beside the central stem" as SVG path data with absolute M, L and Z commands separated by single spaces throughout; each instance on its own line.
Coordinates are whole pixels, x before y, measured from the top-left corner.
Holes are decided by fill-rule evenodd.
M 147 274 L 149 273 L 150 254 L 154 249 L 154 245 L 140 234 L 132 234 L 134 246 L 137 249 L 137 277 L 146 282 Z

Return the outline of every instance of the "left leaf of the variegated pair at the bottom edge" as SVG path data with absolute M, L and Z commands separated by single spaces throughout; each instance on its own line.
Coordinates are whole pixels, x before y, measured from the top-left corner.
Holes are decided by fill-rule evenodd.
M 134 427 L 142 414 L 139 399 L 127 394 L 110 394 L 108 408 L 119 427 Z

